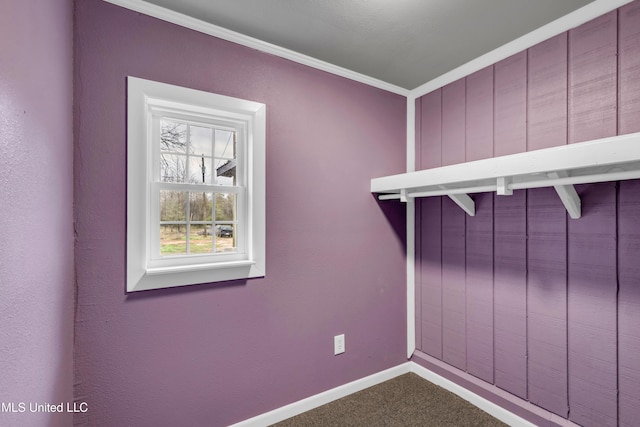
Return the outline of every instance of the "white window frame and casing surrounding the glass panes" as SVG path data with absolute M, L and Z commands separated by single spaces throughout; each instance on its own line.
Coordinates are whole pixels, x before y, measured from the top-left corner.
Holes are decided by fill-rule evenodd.
M 129 76 L 127 78 L 127 292 L 263 277 L 265 257 L 266 106 L 261 103 Z M 242 134 L 244 185 L 237 193 L 238 224 L 244 233 L 232 255 L 158 257 L 157 152 L 153 122 L 176 115 L 220 122 Z M 157 119 L 156 119 L 157 123 Z M 242 182 L 241 182 L 242 184 Z

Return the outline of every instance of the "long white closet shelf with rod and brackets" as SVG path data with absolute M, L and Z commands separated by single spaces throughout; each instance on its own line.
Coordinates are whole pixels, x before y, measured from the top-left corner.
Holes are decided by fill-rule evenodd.
M 494 157 L 371 180 L 380 200 L 449 196 L 475 215 L 472 193 L 554 187 L 571 218 L 580 218 L 575 184 L 640 178 L 640 132 Z

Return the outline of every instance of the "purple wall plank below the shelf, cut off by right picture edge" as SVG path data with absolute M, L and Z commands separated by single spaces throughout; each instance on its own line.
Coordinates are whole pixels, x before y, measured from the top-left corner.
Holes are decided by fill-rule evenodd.
M 640 180 L 620 183 L 618 211 L 618 388 L 620 426 L 640 420 Z

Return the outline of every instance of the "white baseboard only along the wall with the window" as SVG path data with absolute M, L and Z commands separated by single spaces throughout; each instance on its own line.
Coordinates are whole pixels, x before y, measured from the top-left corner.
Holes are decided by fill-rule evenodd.
M 264 427 L 278 423 L 280 421 L 284 421 L 288 418 L 300 415 L 303 412 L 307 412 L 311 409 L 315 409 L 319 406 L 331 403 L 334 400 L 338 400 L 350 394 L 357 393 L 361 390 L 364 390 L 365 388 L 372 387 L 400 375 L 409 373 L 411 372 L 411 364 L 414 363 L 403 363 L 402 365 L 389 368 L 385 371 L 378 372 L 377 374 L 369 375 L 368 377 L 352 381 L 336 388 L 332 388 L 331 390 L 327 390 L 314 396 L 307 397 L 306 399 L 302 399 L 281 408 L 274 409 L 273 411 L 266 412 L 262 415 L 249 418 L 248 420 L 233 424 L 230 427 Z

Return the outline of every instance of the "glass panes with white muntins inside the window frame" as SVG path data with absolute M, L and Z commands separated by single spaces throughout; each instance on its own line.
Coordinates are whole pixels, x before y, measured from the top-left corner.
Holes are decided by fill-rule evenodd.
M 166 115 L 154 117 L 152 127 L 160 192 L 152 258 L 243 253 L 246 230 L 238 222 L 246 216 L 239 197 L 246 178 L 242 128 Z

